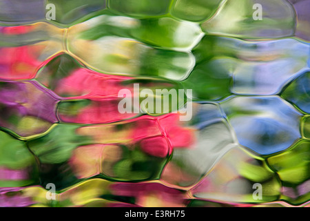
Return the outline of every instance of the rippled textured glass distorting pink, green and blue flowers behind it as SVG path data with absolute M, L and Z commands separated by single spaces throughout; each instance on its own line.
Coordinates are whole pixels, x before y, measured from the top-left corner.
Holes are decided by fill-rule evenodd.
M 0 206 L 309 206 L 309 8 L 0 0 Z M 134 84 L 192 119 L 119 113 Z

